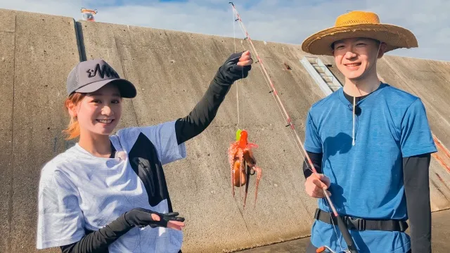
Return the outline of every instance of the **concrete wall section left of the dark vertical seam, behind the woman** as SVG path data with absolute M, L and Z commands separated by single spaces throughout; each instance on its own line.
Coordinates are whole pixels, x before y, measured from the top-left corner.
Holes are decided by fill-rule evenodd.
M 6 151 L 1 218 L 7 221 L 1 225 L 0 252 L 34 252 L 39 168 L 66 148 L 61 101 L 68 72 L 79 61 L 75 22 L 4 10 L 0 18 L 0 60 L 6 63 L 0 67 L 0 143 Z

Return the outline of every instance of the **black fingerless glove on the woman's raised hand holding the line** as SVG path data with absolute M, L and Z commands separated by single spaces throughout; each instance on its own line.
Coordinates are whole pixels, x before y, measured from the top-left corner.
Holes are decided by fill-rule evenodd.
M 237 64 L 243 53 L 244 51 L 233 53 L 226 59 L 225 63 L 219 67 L 219 73 L 217 74 L 221 74 L 221 78 L 226 80 L 226 82 L 233 83 L 238 79 L 248 76 L 248 72 L 252 69 L 252 65 L 240 66 Z

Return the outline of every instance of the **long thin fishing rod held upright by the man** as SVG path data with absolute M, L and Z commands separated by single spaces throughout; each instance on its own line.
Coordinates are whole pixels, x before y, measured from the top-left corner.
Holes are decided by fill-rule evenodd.
M 269 84 L 271 86 L 271 93 L 274 95 L 274 98 L 276 98 L 276 100 L 278 101 L 279 106 L 281 106 L 281 108 L 283 109 L 283 113 L 284 113 L 283 118 L 285 116 L 285 120 L 286 120 L 286 122 L 288 122 L 287 126 L 290 126 L 290 128 L 293 130 L 293 132 L 295 134 L 295 137 L 297 138 L 298 143 L 300 143 L 300 146 L 302 147 L 302 151 L 304 153 L 304 156 L 303 156 L 303 154 L 301 152 L 300 152 L 300 154 L 303 156 L 303 158 L 306 157 L 311 171 L 313 171 L 314 174 L 316 176 L 318 176 L 319 174 L 317 173 L 316 168 L 314 167 L 314 164 L 311 162 L 311 158 L 309 158 L 309 155 L 308 155 L 307 151 L 304 149 L 304 145 L 303 145 L 302 140 L 300 139 L 300 137 L 298 136 L 297 132 L 295 131 L 295 127 L 293 125 L 293 122 L 290 119 L 290 116 L 288 115 L 288 112 L 286 112 L 285 107 L 283 105 L 283 102 L 281 102 L 281 98 L 278 96 L 278 92 L 275 89 L 274 83 L 271 81 L 269 74 L 267 74 L 266 68 L 264 67 L 264 63 L 262 62 L 262 59 L 259 57 L 259 55 L 257 53 L 257 50 L 255 48 L 255 45 L 252 42 L 252 39 L 250 39 L 250 34 L 248 33 L 247 29 L 245 28 L 245 25 L 244 25 L 242 19 L 240 18 L 239 13 L 238 13 L 238 10 L 236 10 L 236 6 L 234 6 L 233 2 L 229 2 L 229 4 L 231 4 L 231 6 L 233 7 L 233 11 L 236 13 L 236 20 L 235 21 L 239 21 L 239 25 L 240 25 L 241 29 L 243 30 L 243 32 L 245 34 L 245 40 L 247 40 L 249 42 L 250 47 L 252 48 L 252 51 L 255 53 L 255 56 L 257 58 L 257 63 L 259 63 L 259 68 L 262 70 L 264 78 L 266 79 L 266 82 L 269 81 Z M 333 205 L 333 202 L 331 201 L 330 196 L 328 195 L 326 190 L 324 188 L 322 190 L 323 190 L 323 194 L 326 197 L 326 200 L 328 201 L 328 205 L 330 205 L 330 208 L 333 211 L 333 215 L 335 216 L 335 219 L 338 221 L 338 228 L 339 228 L 340 232 L 342 233 L 342 237 L 344 238 L 345 242 L 347 243 L 347 249 L 345 249 L 345 251 L 343 251 L 343 252 L 358 253 L 358 250 L 356 249 L 356 245 L 354 243 L 354 240 L 353 240 L 352 236 L 350 235 L 350 233 L 349 233 L 349 231 L 347 229 L 347 225 L 342 220 L 342 217 L 339 216 L 339 214 L 336 211 L 336 209 L 335 209 L 335 207 Z M 331 219 L 331 222 L 334 224 L 333 217 Z M 338 235 L 338 233 L 336 233 L 336 235 Z M 341 248 L 342 248 L 342 246 L 341 246 Z

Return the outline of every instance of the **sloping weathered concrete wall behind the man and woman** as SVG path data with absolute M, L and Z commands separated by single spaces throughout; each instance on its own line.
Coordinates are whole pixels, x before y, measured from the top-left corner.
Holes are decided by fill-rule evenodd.
M 4 109 L 0 111 L 4 148 L 0 158 L 6 168 L 0 172 L 0 193 L 4 193 L 0 215 L 8 221 L 1 224 L 0 252 L 37 252 L 39 173 L 45 162 L 73 144 L 60 134 L 68 124 L 62 106 L 65 80 L 80 58 L 104 58 L 121 77 L 136 85 L 138 96 L 124 103 L 122 128 L 186 116 L 219 65 L 234 51 L 233 38 L 100 22 L 78 22 L 78 30 L 75 26 L 72 18 L 0 10 L 0 101 Z M 306 112 L 323 97 L 300 65 L 305 53 L 300 45 L 254 43 L 303 138 Z M 248 48 L 245 41 L 243 45 Z M 240 51 L 239 39 L 236 46 Z M 409 61 L 422 64 L 418 59 L 404 63 L 402 58 L 394 59 L 399 63 L 391 63 L 393 66 Z M 450 67 L 441 64 L 438 70 L 448 73 Z M 406 83 L 408 77 L 404 74 L 397 79 Z M 447 92 L 445 78 L 442 76 L 441 93 Z M 316 202 L 304 193 L 303 158 L 269 91 L 255 64 L 250 76 L 232 87 L 208 129 L 188 141 L 186 160 L 165 166 L 174 209 L 186 217 L 185 253 L 233 251 L 309 235 Z M 443 104 L 432 98 L 429 101 L 432 106 Z M 449 128 L 437 124 L 438 112 L 446 113 L 437 109 L 432 113 L 431 117 L 436 117 L 432 128 L 445 144 Z M 448 121 L 447 117 L 443 119 Z M 238 188 L 236 198 L 231 196 L 226 149 L 238 127 L 248 129 L 249 140 L 259 145 L 255 157 L 263 176 L 255 209 L 255 176 L 250 179 L 248 207 L 243 209 Z M 432 179 L 438 183 L 432 192 L 432 207 L 444 209 L 449 206 L 449 171 L 436 159 L 432 166 L 439 175 Z M 30 231 L 36 232 L 30 235 Z

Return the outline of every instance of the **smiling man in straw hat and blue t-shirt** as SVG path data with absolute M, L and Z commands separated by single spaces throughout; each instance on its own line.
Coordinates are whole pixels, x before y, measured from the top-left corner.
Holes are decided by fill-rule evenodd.
M 334 56 L 345 85 L 311 106 L 304 148 L 305 188 L 319 198 L 307 252 L 347 248 L 323 198 L 330 193 L 359 252 L 431 252 L 428 167 L 437 152 L 420 98 L 380 82 L 376 63 L 387 51 L 416 47 L 402 27 L 371 12 L 340 15 L 335 27 L 311 35 L 302 50 Z M 404 233 L 409 219 L 411 237 Z M 371 221 L 369 221 L 371 220 Z

